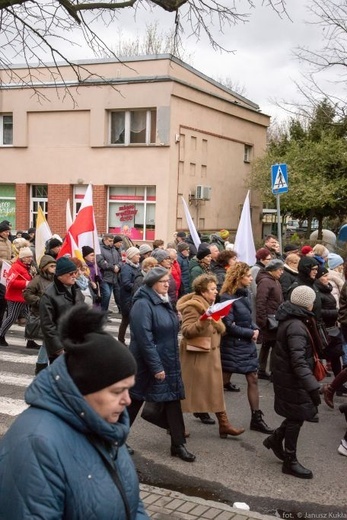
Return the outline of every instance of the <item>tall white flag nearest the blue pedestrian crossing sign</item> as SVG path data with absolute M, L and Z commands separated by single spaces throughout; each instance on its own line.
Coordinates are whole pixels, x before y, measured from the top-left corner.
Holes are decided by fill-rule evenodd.
M 248 265 L 255 263 L 255 246 L 251 222 L 251 206 L 249 202 L 249 190 L 243 204 L 239 226 L 237 228 L 234 251 L 241 262 Z

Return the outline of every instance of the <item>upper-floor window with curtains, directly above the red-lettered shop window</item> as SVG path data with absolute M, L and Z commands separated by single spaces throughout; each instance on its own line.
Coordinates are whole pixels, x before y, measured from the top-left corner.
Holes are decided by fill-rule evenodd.
M 157 111 L 126 110 L 111 112 L 110 143 L 123 146 L 155 144 Z

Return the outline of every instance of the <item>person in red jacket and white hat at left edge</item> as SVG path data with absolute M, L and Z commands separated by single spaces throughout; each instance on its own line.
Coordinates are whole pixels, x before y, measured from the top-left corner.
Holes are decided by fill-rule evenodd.
M 0 346 L 7 347 L 5 334 L 16 322 L 18 317 L 27 316 L 28 307 L 25 303 L 23 290 L 36 274 L 33 266 L 33 252 L 29 247 L 19 251 L 18 258 L 13 262 L 8 272 L 5 299 L 7 300 L 7 318 L 2 322 L 0 329 Z M 28 342 L 29 343 L 29 342 Z M 30 347 L 30 343 L 27 344 Z

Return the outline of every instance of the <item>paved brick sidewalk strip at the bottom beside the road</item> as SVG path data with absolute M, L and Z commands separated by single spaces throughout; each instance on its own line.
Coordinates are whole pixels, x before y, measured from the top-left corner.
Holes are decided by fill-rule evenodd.
M 270 520 L 273 516 L 261 515 L 244 509 L 230 507 L 221 502 L 189 497 L 176 491 L 162 489 L 145 484 L 140 485 L 141 498 L 151 518 L 157 520 Z

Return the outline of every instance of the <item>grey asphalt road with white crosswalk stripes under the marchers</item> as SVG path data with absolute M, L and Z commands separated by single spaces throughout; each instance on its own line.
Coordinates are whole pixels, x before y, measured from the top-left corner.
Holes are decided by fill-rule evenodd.
M 109 331 L 116 333 L 117 326 L 113 317 Z M 36 359 L 35 351 L 24 348 L 22 328 L 13 327 L 7 339 L 11 346 L 0 348 L 0 434 L 24 405 L 25 386 Z M 191 434 L 187 447 L 197 457 L 192 464 L 171 457 L 166 431 L 138 417 L 129 444 L 135 449 L 140 480 L 230 505 L 246 502 L 253 511 L 282 518 L 347 518 L 347 459 L 337 453 L 346 422 L 338 406 L 330 410 L 322 404 L 319 423 L 304 424 L 298 459 L 313 471 L 314 478 L 300 480 L 282 474 L 281 462 L 262 445 L 266 436 L 249 429 L 245 378 L 234 375 L 233 381 L 241 392 L 225 393 L 229 419 L 246 431 L 237 438 L 220 439 L 217 425 L 203 425 L 186 414 L 186 429 Z M 272 385 L 259 381 L 259 387 L 265 420 L 276 427 L 281 418 L 273 411 Z M 336 405 L 344 399 L 337 397 Z

